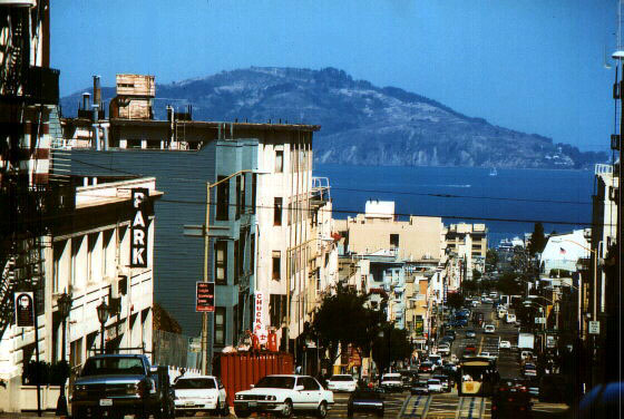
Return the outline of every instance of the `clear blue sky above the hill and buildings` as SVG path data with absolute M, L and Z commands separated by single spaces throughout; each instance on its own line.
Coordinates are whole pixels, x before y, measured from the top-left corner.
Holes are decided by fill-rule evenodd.
M 98 74 L 170 82 L 335 67 L 583 150 L 613 131 L 615 0 L 56 0 L 61 95 Z

